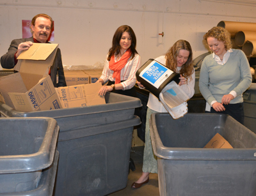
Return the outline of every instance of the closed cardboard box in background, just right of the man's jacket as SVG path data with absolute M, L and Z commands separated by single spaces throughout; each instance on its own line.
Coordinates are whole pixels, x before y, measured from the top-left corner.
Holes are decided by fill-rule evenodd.
M 64 71 L 67 86 L 89 84 L 90 76 L 82 70 Z

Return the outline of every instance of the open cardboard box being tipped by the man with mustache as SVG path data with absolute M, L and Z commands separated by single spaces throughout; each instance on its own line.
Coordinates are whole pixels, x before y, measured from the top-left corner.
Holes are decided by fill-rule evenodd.
M 0 78 L 4 102 L 20 112 L 60 109 L 60 99 L 49 76 L 58 44 L 33 43 L 18 57 L 19 73 Z

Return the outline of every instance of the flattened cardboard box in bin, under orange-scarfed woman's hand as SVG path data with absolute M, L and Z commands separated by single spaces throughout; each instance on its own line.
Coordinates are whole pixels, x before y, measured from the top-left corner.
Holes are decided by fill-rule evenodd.
M 83 107 L 106 103 L 99 96 L 101 83 L 81 84 L 76 86 L 58 87 L 56 89 L 63 108 Z

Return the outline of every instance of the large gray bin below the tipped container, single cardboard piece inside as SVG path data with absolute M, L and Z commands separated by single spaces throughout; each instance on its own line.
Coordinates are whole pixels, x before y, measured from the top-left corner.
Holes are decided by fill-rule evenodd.
M 256 195 L 256 134 L 224 114 L 152 114 L 160 195 Z M 234 149 L 203 148 L 220 133 Z

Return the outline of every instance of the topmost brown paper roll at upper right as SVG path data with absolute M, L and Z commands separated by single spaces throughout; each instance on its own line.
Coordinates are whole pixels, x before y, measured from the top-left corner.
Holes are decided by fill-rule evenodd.
M 232 38 L 236 36 L 238 31 L 256 31 L 256 23 L 253 22 L 234 22 L 222 20 L 217 26 L 227 29 Z

